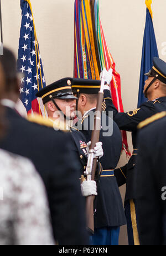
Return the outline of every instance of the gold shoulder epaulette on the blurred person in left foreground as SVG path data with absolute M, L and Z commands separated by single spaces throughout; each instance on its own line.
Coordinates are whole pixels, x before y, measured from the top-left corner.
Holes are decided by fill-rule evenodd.
M 66 129 L 64 129 L 64 126 L 61 125 L 61 124 L 58 124 L 58 122 L 53 122 L 53 121 L 50 121 L 48 118 L 45 118 L 45 117 L 42 117 L 42 116 L 39 116 L 39 115 L 29 115 L 28 116 L 28 121 L 29 122 L 34 122 L 35 124 L 38 124 L 38 125 L 44 125 L 44 126 L 47 126 L 47 127 L 51 127 L 51 128 L 54 128 L 55 130 L 63 130 L 63 131 L 66 131 Z

